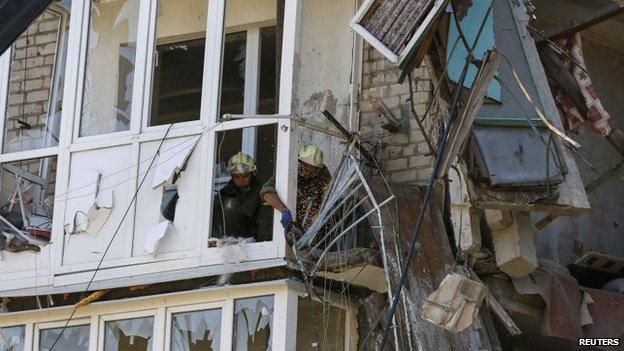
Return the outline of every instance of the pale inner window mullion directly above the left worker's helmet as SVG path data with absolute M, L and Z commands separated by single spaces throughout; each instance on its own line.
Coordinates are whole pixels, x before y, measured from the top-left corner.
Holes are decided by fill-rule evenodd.
M 245 49 L 245 95 L 243 113 L 246 115 L 258 112 L 258 87 L 260 86 L 260 28 L 247 31 L 247 47 Z M 244 153 L 256 158 L 257 128 L 243 129 L 241 149 Z

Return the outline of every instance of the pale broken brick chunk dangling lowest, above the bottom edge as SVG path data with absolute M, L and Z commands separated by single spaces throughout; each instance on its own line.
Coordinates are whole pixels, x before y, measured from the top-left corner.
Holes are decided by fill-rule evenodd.
M 421 317 L 452 333 L 468 328 L 485 297 L 485 285 L 461 274 L 447 275 L 427 298 Z

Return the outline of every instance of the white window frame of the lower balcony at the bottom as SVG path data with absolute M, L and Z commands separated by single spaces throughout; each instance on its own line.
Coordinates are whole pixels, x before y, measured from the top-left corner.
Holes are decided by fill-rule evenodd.
M 236 299 L 273 295 L 273 350 L 295 350 L 297 343 L 298 299 L 306 294 L 301 282 L 277 280 L 233 287 L 211 287 L 194 291 L 169 293 L 157 296 L 127 298 L 116 301 L 94 302 L 76 311 L 70 325 L 90 324 L 90 351 L 103 350 L 107 321 L 140 317 L 153 317 L 153 351 L 169 350 L 171 315 L 177 312 L 221 308 L 221 349 L 232 346 L 234 301 Z M 340 301 L 336 294 L 330 298 Z M 344 309 L 345 350 L 355 350 L 357 339 L 356 309 L 340 302 L 334 306 Z M 62 327 L 73 306 L 0 314 L 0 326 L 25 326 L 25 351 L 38 347 L 39 330 Z

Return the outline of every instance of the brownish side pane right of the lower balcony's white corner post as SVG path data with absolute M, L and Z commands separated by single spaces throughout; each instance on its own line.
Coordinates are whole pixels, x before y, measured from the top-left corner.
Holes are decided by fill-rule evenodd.
M 299 298 L 297 347 L 299 351 L 345 349 L 346 312 L 338 307 Z

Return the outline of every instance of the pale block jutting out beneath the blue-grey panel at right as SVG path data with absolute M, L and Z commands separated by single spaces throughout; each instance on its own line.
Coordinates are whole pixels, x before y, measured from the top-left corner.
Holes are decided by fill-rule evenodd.
M 496 264 L 513 278 L 526 276 L 537 268 L 533 236 L 535 227 L 528 212 L 485 210 L 492 230 Z

